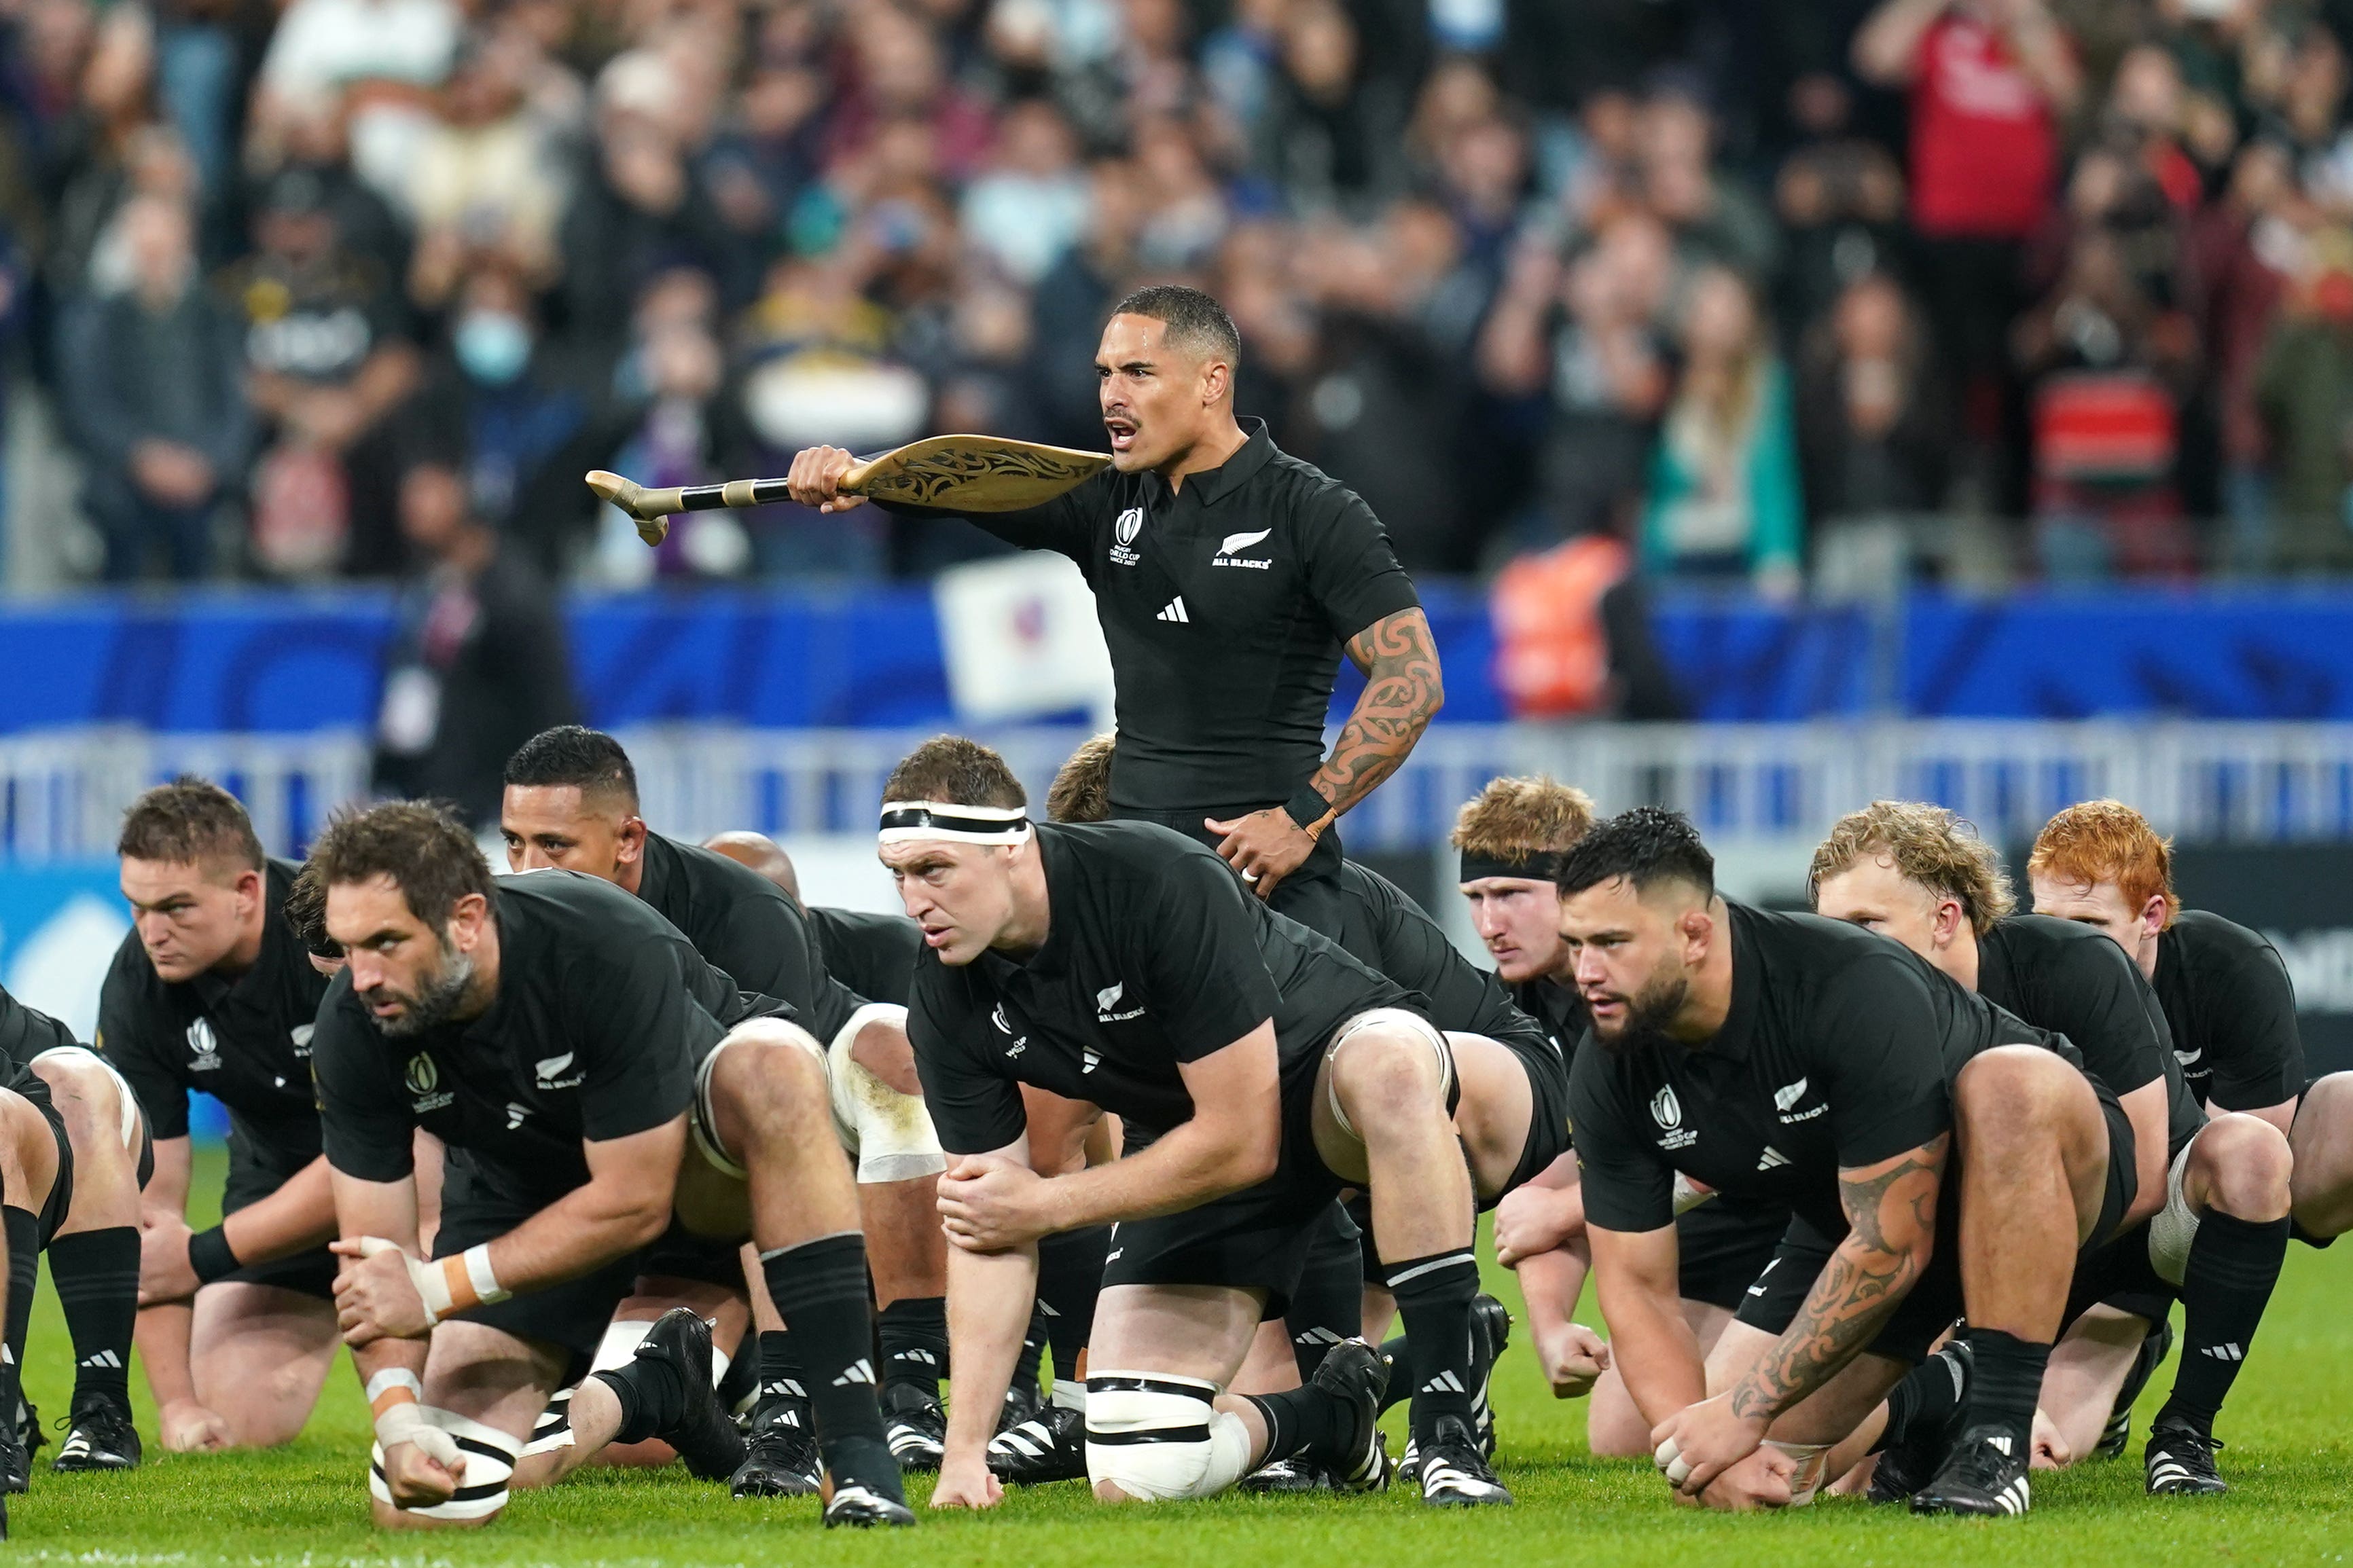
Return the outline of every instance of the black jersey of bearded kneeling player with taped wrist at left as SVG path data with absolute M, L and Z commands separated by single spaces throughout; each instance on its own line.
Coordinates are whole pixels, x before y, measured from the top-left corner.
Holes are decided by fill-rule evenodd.
M 327 1161 L 409 1175 L 421 1126 L 506 1199 L 546 1206 L 588 1180 L 581 1140 L 687 1110 L 694 1065 L 741 1018 L 786 1013 L 645 900 L 576 872 L 499 877 L 499 994 L 480 1018 L 391 1039 L 336 976 L 311 1037 Z

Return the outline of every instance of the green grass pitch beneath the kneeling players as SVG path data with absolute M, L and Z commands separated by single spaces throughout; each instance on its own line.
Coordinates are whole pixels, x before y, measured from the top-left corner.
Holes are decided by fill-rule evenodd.
M 216 1192 L 219 1164 L 198 1192 Z M 927 1514 L 918 1530 L 826 1533 L 814 1500 L 732 1502 L 680 1469 L 588 1472 L 522 1493 L 475 1533 L 384 1535 L 367 1523 L 367 1410 L 339 1368 L 301 1441 L 254 1455 L 151 1453 L 127 1476 L 54 1476 L 40 1455 L 28 1497 L 12 1497 L 0 1556 L 96 1568 L 506 1568 L 522 1563 L 892 1568 L 1939 1568 L 2021 1563 L 2153 1568 L 2155 1563 L 2344 1563 L 2353 1559 L 2353 1253 L 2294 1246 L 2254 1356 L 2224 1415 L 2228 1497 L 2141 1495 L 2139 1441 L 2125 1462 L 2040 1476 L 2035 1512 L 2014 1521 L 1911 1519 L 1861 1500 L 1722 1519 L 1671 1507 L 1647 1465 L 1591 1460 L 1584 1406 L 1555 1403 L 1515 1347 L 1497 1368 L 1501 1472 L 1520 1505 L 1438 1514 L 1402 1488 L 1379 1497 L 1259 1500 L 1104 1509 L 1078 1483 L 1014 1493 L 993 1514 Z M 1489 1288 L 1518 1312 L 1511 1274 Z M 1588 1305 L 1591 1321 L 1591 1305 Z M 52 1418 L 73 1382 L 56 1300 L 42 1284 L 26 1385 Z M 2158 1373 L 2146 1415 L 2172 1385 Z M 139 1425 L 153 1434 L 134 1373 Z M 1402 1413 L 1398 1413 L 1402 1415 Z M 1393 1420 L 1398 1420 L 1393 1415 Z M 2139 1427 L 2134 1432 L 2139 1439 Z M 1395 1453 L 1400 1439 L 1391 1439 Z M 918 1505 L 925 1483 L 911 1486 Z

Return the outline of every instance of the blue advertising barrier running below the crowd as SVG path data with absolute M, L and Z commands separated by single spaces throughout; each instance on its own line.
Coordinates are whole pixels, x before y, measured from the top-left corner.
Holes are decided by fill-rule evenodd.
M 1428 583 L 1447 717 L 1511 717 L 1471 585 Z M 1697 719 L 2353 717 L 2353 590 L 1913 595 L 1857 604 L 1664 597 L 1659 651 Z M 946 724 L 922 585 L 579 595 L 567 607 L 598 724 Z M 82 724 L 287 733 L 365 726 L 384 592 L 89 595 L 0 609 L 0 733 Z M 1355 696 L 1353 672 L 1337 705 Z

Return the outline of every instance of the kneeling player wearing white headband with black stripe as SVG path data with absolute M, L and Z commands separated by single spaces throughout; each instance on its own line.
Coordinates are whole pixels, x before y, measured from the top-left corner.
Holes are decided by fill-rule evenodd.
M 1475 1190 L 1501 1190 L 1527 1138 L 1527 1103 L 1492 1091 L 1518 1077 L 1508 1051 L 1447 1041 L 1407 992 L 1245 898 L 1181 835 L 1031 825 L 1019 780 L 972 741 L 899 764 L 880 839 L 929 947 L 908 1037 L 951 1152 L 953 1394 L 934 1505 L 998 1500 L 984 1450 L 1035 1241 L 1099 1222 L 1118 1225 L 1087 1373 L 1099 1497 L 1202 1497 L 1301 1453 L 1344 1486 L 1386 1481 L 1386 1378 L 1360 1340 L 1304 1389 L 1224 1394 L 1344 1187 L 1372 1192 L 1414 1347 L 1424 1502 L 1506 1502 L 1471 1420 L 1471 1234 Z M 1092 1100 L 1148 1147 L 1040 1178 L 1021 1084 Z

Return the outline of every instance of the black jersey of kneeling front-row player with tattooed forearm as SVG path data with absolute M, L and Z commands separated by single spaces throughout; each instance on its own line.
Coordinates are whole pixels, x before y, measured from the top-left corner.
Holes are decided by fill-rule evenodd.
M 1901 943 L 1824 919 L 1727 903 L 1732 1011 L 1704 1046 L 1577 1053 L 1569 1124 L 1586 1218 L 1673 1222 L 1673 1180 L 1734 1204 L 1784 1204 L 1842 1237 L 1838 1171 L 1915 1150 L 1953 1126 L 1951 1079 L 2038 1030 L 1937 973 Z

